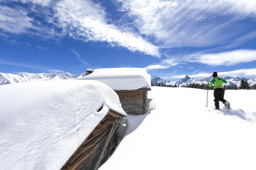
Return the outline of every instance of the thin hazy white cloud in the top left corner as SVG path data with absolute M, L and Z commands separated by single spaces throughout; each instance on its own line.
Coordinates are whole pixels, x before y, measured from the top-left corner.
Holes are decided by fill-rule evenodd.
M 55 39 L 63 36 L 61 32 L 55 31 L 49 8 L 36 8 L 37 5 L 30 3 L 25 8 L 19 5 L 8 6 L 0 5 L 0 36 L 9 37 L 9 34 L 29 35 L 40 39 Z M 31 15 L 32 12 L 35 14 Z M 37 20 L 36 17 L 44 18 Z M 45 24 L 47 23 L 47 24 Z M 51 26 L 50 26 L 51 25 Z M 2 31 L 3 30 L 3 31 Z M 9 34 L 6 34 L 9 33 Z

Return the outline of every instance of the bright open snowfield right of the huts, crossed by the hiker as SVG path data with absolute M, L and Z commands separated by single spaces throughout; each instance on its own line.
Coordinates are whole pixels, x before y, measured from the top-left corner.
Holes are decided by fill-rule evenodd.
M 157 107 L 128 115 L 116 151 L 99 170 L 255 170 L 256 90 L 226 90 L 231 109 L 214 110 L 213 91 L 152 87 Z

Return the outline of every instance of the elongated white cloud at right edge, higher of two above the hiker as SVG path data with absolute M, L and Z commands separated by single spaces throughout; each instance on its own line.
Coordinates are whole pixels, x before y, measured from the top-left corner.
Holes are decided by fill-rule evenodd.
M 188 62 L 199 62 L 206 65 L 237 65 L 243 62 L 256 61 L 256 50 L 235 50 L 212 54 L 191 54 L 185 57 Z

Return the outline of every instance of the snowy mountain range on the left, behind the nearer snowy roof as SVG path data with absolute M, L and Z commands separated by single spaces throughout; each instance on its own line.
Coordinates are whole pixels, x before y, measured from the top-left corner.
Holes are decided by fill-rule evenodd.
M 6 85 L 16 82 L 29 82 L 29 81 L 44 81 L 44 80 L 60 80 L 60 79 L 75 79 L 79 75 L 70 73 L 26 73 L 21 72 L 18 74 L 0 73 L 0 85 Z

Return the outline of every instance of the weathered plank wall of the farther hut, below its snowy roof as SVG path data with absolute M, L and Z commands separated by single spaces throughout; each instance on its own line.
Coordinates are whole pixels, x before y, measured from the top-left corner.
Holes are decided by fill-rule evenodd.
M 140 88 L 137 90 L 115 91 L 119 96 L 123 110 L 127 114 L 141 115 L 147 113 L 147 98 L 150 88 Z

